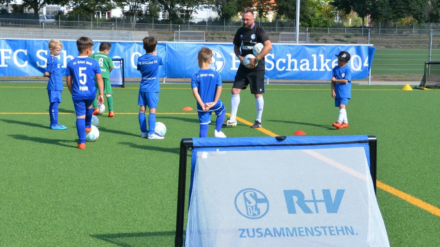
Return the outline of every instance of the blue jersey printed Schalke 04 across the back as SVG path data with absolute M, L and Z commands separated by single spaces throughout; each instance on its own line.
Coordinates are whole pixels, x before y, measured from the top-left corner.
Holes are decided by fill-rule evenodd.
M 154 93 L 160 92 L 159 66 L 163 65 L 162 58 L 153 54 L 144 54 L 138 58 L 137 70 L 140 71 L 139 92 Z

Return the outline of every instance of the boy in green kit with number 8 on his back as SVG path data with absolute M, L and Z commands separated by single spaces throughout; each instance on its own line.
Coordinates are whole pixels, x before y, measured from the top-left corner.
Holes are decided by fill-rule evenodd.
M 108 42 L 103 42 L 99 45 L 99 52 L 93 53 L 90 58 L 93 58 L 98 61 L 99 66 L 101 67 L 101 75 L 103 76 L 104 82 L 104 95 L 107 98 L 107 106 L 109 108 L 109 117 L 114 117 L 114 108 L 113 108 L 113 90 L 111 89 L 110 84 L 110 71 L 113 70 L 113 60 L 109 56 L 109 51 L 111 49 L 111 44 Z M 96 78 L 95 78 L 95 85 Z M 99 113 L 98 102 L 96 102 L 96 98 L 93 101 L 93 115 Z

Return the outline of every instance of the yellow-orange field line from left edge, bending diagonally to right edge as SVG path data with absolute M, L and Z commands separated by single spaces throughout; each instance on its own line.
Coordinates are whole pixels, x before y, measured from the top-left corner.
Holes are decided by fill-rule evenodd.
M 0 113 L 0 114 L 49 114 L 49 113 Z M 58 114 L 74 114 L 74 113 L 58 113 Z M 138 113 L 117 113 L 117 114 L 118 115 L 135 115 L 135 114 L 138 114 Z M 180 115 L 195 115 L 197 113 L 156 113 L 156 114 L 163 114 L 163 115 L 176 115 L 176 114 L 180 114 Z M 231 116 L 230 113 L 226 113 L 226 115 L 227 116 Z M 246 124 L 248 126 L 252 126 L 252 124 L 253 124 L 253 123 L 251 123 L 251 122 L 249 122 L 247 120 L 244 120 L 244 119 L 242 119 L 240 117 L 236 117 L 236 119 L 237 119 L 237 121 L 239 121 L 239 122 L 241 122 L 243 124 Z M 265 129 L 263 127 L 257 128 L 257 130 L 263 132 L 264 134 L 267 134 L 268 136 L 279 136 L 279 134 L 275 134 L 272 131 L 268 131 L 267 129 Z M 379 189 L 382 189 L 382 190 L 384 190 L 384 191 L 386 191 L 386 192 L 388 192 L 388 193 L 390 193 L 390 194 L 392 194 L 394 196 L 399 197 L 402 200 L 405 200 L 405 201 L 413 204 L 414 206 L 420 207 L 421 209 L 423 209 L 425 211 L 428 211 L 429 213 L 434 214 L 434 215 L 440 217 L 440 208 L 435 207 L 435 206 L 433 206 L 433 205 L 431 205 L 429 203 L 426 203 L 426 202 L 424 202 L 424 201 L 422 201 L 422 200 L 420 200 L 420 199 L 418 199 L 418 198 L 416 198 L 414 196 L 411 196 L 410 194 L 404 193 L 403 191 L 400 191 L 400 190 L 398 190 L 396 188 L 393 188 L 393 187 L 391 187 L 389 185 L 386 185 L 386 184 L 380 182 L 379 180 L 376 180 L 376 185 L 377 185 L 377 187 Z

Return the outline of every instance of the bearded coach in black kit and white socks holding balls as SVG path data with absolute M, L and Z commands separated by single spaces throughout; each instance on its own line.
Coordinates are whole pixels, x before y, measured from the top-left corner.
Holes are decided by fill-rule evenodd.
M 234 86 L 231 90 L 231 117 L 223 122 L 224 126 L 237 125 L 237 109 L 240 104 L 240 91 L 250 85 L 250 92 L 255 95 L 257 118 L 252 128 L 259 128 L 261 124 L 261 115 L 263 113 L 263 93 L 264 93 L 264 73 L 266 67 L 264 56 L 272 50 L 272 43 L 266 31 L 254 22 L 255 17 L 251 8 L 245 8 L 242 13 L 243 26 L 238 29 L 234 37 L 234 52 L 240 59 L 237 74 L 235 75 Z M 253 54 L 252 48 L 255 44 L 264 44 L 263 50 L 255 59 L 251 58 L 249 68 L 243 65 L 243 58 L 247 54 Z M 257 66 L 255 66 L 257 64 Z

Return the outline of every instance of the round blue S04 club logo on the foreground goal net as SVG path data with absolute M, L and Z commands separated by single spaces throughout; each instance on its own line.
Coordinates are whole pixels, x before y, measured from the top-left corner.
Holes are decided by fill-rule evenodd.
M 268 212 L 269 201 L 257 189 L 243 189 L 235 196 L 235 209 L 246 218 L 258 219 Z

